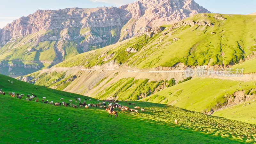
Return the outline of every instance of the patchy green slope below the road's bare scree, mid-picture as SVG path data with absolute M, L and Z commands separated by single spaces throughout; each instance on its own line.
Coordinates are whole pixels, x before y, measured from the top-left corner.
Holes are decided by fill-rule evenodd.
M 122 78 L 110 84 L 106 89 L 98 92 L 97 99 L 107 99 L 109 96 L 118 97 L 118 100 L 138 100 L 154 92 L 175 85 L 175 80 L 149 81 L 148 79 Z

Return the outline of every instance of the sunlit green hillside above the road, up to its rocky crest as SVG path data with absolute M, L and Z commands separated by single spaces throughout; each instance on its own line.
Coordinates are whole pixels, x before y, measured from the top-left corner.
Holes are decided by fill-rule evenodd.
M 148 37 L 134 37 L 86 52 L 56 67 L 92 67 L 115 60 L 136 68 L 185 65 L 234 65 L 255 51 L 256 16 L 203 13 Z

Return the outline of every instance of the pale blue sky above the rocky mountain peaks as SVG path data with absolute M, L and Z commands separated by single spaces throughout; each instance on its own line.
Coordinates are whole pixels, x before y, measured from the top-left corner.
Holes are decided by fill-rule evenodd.
M 119 7 L 137 0 L 0 0 L 0 28 L 36 10 L 58 10 L 80 7 Z M 256 0 L 195 0 L 200 6 L 213 13 L 250 14 L 256 12 Z

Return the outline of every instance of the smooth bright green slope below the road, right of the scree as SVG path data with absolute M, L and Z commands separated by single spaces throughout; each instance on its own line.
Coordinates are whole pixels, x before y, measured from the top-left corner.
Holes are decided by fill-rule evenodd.
M 194 78 L 156 92 L 141 101 L 165 103 L 188 110 L 207 112 L 223 106 L 227 97 L 238 90 L 255 88 L 255 81 L 242 82 L 212 78 Z

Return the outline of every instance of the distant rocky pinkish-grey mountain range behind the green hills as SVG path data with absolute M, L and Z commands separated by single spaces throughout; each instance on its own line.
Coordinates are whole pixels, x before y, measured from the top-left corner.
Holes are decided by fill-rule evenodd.
M 4 75 L 19 76 L 79 53 L 115 44 L 148 28 L 209 12 L 194 0 L 141 0 L 119 8 L 38 10 L 0 29 Z

